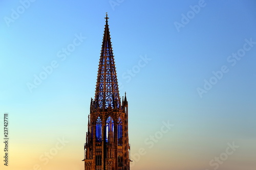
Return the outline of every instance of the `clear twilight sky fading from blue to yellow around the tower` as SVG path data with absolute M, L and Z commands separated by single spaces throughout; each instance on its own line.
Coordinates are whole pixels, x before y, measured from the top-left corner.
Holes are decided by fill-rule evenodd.
M 5 112 L 10 120 L 1 169 L 83 169 L 105 12 L 129 101 L 131 169 L 256 169 L 256 1 L 28 2 L 0 2 L 1 129 Z M 239 146 L 230 155 L 228 143 Z

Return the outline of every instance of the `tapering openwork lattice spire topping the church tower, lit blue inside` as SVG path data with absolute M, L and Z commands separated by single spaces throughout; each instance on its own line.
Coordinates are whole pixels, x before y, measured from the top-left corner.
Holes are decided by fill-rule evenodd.
M 108 16 L 102 41 L 95 102 L 99 108 L 119 108 L 120 97 L 117 83 L 114 55 L 111 45 Z

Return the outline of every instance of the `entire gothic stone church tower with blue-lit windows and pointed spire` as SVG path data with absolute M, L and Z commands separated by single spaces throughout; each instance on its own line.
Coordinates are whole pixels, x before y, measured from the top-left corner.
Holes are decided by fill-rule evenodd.
M 108 14 L 101 46 L 95 98 L 84 143 L 84 169 L 130 169 L 128 102 L 119 96 Z

